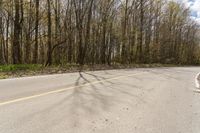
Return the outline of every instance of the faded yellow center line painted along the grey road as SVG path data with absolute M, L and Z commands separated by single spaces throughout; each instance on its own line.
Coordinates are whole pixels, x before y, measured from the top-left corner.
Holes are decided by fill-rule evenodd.
M 72 87 L 67 87 L 67 88 L 54 90 L 54 91 L 49 91 L 49 92 L 36 94 L 36 95 L 32 95 L 32 96 L 17 98 L 17 99 L 14 99 L 14 100 L 0 102 L 0 106 L 12 104 L 12 103 L 17 103 L 17 102 L 22 102 L 22 101 L 26 101 L 26 100 L 30 100 L 30 99 L 34 99 L 34 98 L 38 98 L 38 97 L 42 97 L 42 96 L 46 96 L 46 95 L 50 95 L 50 94 L 60 93 L 60 92 L 64 92 L 64 91 L 67 91 L 67 90 L 72 90 L 72 89 L 75 89 L 75 88 L 86 87 L 86 86 L 90 86 L 90 85 L 94 85 L 94 84 L 98 84 L 98 83 L 103 83 L 103 82 L 111 81 L 111 80 L 115 80 L 115 79 L 121 79 L 121 78 L 125 78 L 125 77 L 141 75 L 143 73 L 145 73 L 145 72 L 134 73 L 134 74 L 126 75 L 126 76 L 118 76 L 118 77 L 114 77 L 114 78 L 108 78 L 108 79 L 104 79 L 104 80 L 100 80 L 100 81 L 94 81 L 94 82 L 91 82 L 91 83 L 82 84 L 82 85 L 79 85 L 79 86 L 72 86 Z

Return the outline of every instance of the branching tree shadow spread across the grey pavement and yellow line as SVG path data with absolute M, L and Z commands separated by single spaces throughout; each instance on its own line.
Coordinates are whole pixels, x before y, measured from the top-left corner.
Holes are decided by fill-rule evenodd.
M 93 80 L 88 78 L 88 75 L 92 76 Z M 51 115 L 55 115 L 55 112 L 62 110 L 62 112 L 66 112 L 66 114 L 63 114 L 64 116 L 66 115 L 66 117 L 62 116 L 59 118 L 58 116 L 57 119 L 54 120 L 54 123 L 59 124 L 65 121 L 67 119 L 67 114 L 71 114 L 70 117 L 73 118 L 71 124 L 77 127 L 81 124 L 81 116 L 98 116 L 98 114 L 102 112 L 110 112 L 110 109 L 118 104 L 134 106 L 134 101 L 137 103 L 146 103 L 140 95 L 129 92 L 130 89 L 135 89 L 137 86 L 124 89 L 122 87 L 123 85 L 120 87 L 116 84 L 116 81 L 112 82 L 107 79 L 108 78 L 97 74 L 79 72 L 74 89 L 67 92 L 69 94 L 62 92 L 61 95 L 63 96 L 63 94 L 66 93 L 66 96 L 61 100 L 54 102 L 47 108 L 31 116 L 38 117 L 37 115 L 40 115 L 40 117 L 51 117 Z M 98 81 L 98 83 L 93 84 L 93 81 Z M 129 99 L 129 102 L 127 102 L 127 99 Z M 51 127 L 53 125 L 46 126 Z

